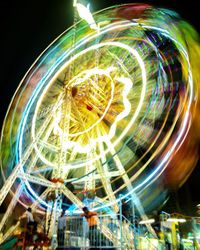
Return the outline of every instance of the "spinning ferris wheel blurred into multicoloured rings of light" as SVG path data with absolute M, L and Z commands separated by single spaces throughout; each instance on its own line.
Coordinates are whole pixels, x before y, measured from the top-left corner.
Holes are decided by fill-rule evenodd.
M 164 25 L 172 16 L 148 5 L 93 16 L 76 7 L 82 20 L 35 61 L 9 106 L 0 201 L 9 190 L 13 198 L 0 228 L 17 202 L 52 209 L 52 193 L 55 213 L 63 197 L 81 208 L 80 193 L 89 192 L 96 210 L 117 212 L 122 197 L 143 213 L 142 195 L 190 130 L 193 66 L 178 31 Z

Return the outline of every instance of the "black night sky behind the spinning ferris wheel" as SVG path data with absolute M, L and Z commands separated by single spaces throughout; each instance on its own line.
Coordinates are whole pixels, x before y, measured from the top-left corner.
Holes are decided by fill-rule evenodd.
M 73 0 L 2 0 L 0 1 L 0 122 L 19 85 L 20 80 L 41 52 L 73 22 Z M 98 10 L 114 4 L 131 3 L 124 0 L 90 0 Z M 141 1 L 137 1 L 141 2 Z M 200 32 L 198 0 L 142 1 L 176 10 Z M 185 2 L 185 1 L 184 1 Z M 195 211 L 200 203 L 198 195 L 200 171 L 196 167 L 188 181 L 171 197 L 172 210 Z M 175 204 L 177 200 L 179 204 Z M 174 208 L 173 208 L 174 205 Z M 190 213 L 190 212 L 188 212 Z

